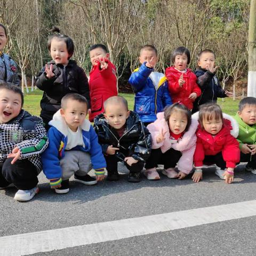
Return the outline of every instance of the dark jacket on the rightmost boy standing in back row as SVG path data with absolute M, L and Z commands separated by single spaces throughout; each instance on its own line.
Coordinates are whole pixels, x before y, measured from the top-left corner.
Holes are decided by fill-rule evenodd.
M 217 98 L 227 97 L 225 90 L 222 89 L 220 82 L 214 73 L 209 70 L 199 68 L 195 71 L 197 76 L 197 84 L 202 90 L 202 94 L 194 101 L 192 113 L 198 111 L 199 106 L 204 103 L 216 103 Z

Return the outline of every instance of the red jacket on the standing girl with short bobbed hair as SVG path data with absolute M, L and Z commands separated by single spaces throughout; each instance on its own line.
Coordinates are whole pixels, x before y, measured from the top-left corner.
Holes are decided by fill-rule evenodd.
M 179 86 L 180 76 L 183 74 L 183 79 L 186 81 L 182 87 Z M 193 108 L 193 101 L 188 97 L 191 93 L 195 92 L 197 97 L 201 95 L 201 89 L 196 83 L 196 75 L 187 69 L 186 73 L 182 73 L 174 67 L 166 68 L 165 76 L 168 79 L 168 89 L 172 97 L 172 102 L 182 102 L 188 109 Z

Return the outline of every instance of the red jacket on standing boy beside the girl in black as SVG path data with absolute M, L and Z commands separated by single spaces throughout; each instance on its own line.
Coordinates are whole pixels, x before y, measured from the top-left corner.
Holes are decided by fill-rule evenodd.
M 95 116 L 104 111 L 103 103 L 109 97 L 117 95 L 116 68 L 109 61 L 106 69 L 100 69 L 100 63 L 92 67 L 89 78 L 91 98 L 91 114 L 89 119 L 93 122 Z

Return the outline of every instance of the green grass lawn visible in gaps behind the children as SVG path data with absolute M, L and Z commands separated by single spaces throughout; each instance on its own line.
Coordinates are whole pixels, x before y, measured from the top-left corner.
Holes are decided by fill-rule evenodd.
M 40 115 L 40 100 L 42 98 L 43 92 L 39 89 L 34 92 L 29 92 L 25 94 L 25 103 L 24 109 L 26 109 L 30 114 L 39 116 Z M 133 93 L 119 93 L 119 95 L 123 96 L 129 105 L 129 109 L 133 109 L 134 104 L 134 94 Z M 222 99 L 218 100 L 218 104 L 222 108 L 223 112 L 234 116 L 238 109 L 239 100 L 233 101 L 233 99 L 225 98 L 224 101 Z

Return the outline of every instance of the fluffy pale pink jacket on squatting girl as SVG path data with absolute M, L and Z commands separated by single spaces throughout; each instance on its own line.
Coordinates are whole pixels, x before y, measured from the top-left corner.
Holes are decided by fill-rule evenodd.
M 154 123 L 151 123 L 147 126 L 147 129 L 152 136 L 152 148 L 161 148 L 162 153 L 165 153 L 170 148 L 178 150 L 182 153 L 182 156 L 178 162 L 178 169 L 184 173 L 190 173 L 193 169 L 193 156 L 196 149 L 196 129 L 198 122 L 195 119 L 192 119 L 191 125 L 187 132 L 185 132 L 178 141 L 170 139 L 169 126 L 164 119 L 164 113 L 157 113 L 157 119 Z M 157 143 L 157 135 L 162 131 L 165 133 L 165 140 Z

